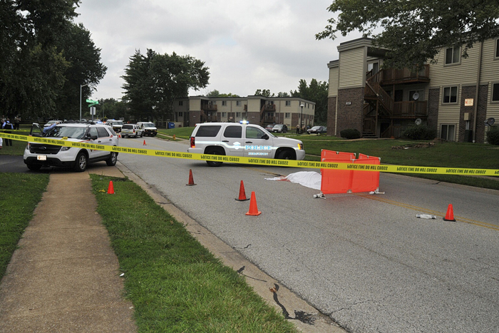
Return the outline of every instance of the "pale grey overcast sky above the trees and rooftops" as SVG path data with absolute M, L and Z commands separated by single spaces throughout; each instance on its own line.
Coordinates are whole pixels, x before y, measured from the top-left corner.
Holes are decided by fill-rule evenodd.
M 317 41 L 332 0 L 82 0 L 75 21 L 91 32 L 106 76 L 93 98 L 123 96 L 124 69 L 135 50 L 173 52 L 205 61 L 209 91 L 253 95 L 296 90 L 299 80 L 327 81 L 340 42 Z

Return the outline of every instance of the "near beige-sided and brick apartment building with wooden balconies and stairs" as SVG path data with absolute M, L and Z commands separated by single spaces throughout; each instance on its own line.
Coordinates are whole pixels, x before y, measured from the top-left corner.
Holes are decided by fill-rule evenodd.
M 398 138 L 410 125 L 426 124 L 437 137 L 485 140 L 489 118 L 499 120 L 499 43 L 442 48 L 436 63 L 421 68 L 382 68 L 386 50 L 372 39 L 346 41 L 328 63 L 328 134 L 356 128 L 365 138 Z

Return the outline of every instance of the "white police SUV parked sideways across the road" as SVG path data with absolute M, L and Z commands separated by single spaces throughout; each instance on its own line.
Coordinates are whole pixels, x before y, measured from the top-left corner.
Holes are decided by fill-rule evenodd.
M 276 137 L 259 125 L 245 122 L 196 124 L 187 152 L 279 160 L 303 160 L 305 157 L 302 141 Z M 222 165 L 222 162 L 211 160 L 206 163 Z

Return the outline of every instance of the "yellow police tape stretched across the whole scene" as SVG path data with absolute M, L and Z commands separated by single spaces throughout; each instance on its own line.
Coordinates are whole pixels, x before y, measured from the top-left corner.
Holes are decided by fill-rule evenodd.
M 473 169 L 473 168 L 442 168 L 413 165 L 369 165 L 354 163 L 331 163 L 313 162 L 306 160 L 277 160 L 272 158 L 248 158 L 227 155 L 207 155 L 196 153 L 179 153 L 176 151 L 153 150 L 145 148 L 129 148 L 110 145 L 96 145 L 93 143 L 81 143 L 69 141 L 66 138 L 48 139 L 37 136 L 1 133 L 0 137 L 11 140 L 26 141 L 32 143 L 48 143 L 51 145 L 63 145 L 66 147 L 88 148 L 91 150 L 107 150 L 118 153 L 128 153 L 147 156 L 160 156 L 165 158 L 184 158 L 188 160 L 210 160 L 215 162 L 254 164 L 254 165 L 275 165 L 294 168 L 315 168 L 315 169 L 336 169 L 336 170 L 359 170 L 377 171 L 381 173 L 426 173 L 432 175 L 488 175 L 499 176 L 499 169 Z

